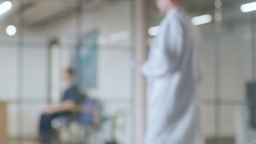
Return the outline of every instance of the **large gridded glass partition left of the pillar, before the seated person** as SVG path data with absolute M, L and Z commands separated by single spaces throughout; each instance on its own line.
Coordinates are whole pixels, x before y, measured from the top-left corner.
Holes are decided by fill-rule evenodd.
M 133 143 L 133 70 L 126 62 L 133 54 L 132 1 L 11 3 L 0 24 L 2 29 L 8 25 L 17 29 L 11 37 L 4 30 L 0 33 L 0 100 L 7 104 L 7 143 L 39 143 L 45 107 L 52 105 L 56 114 L 62 111 L 60 106 L 67 106 L 59 105 L 69 92 L 62 75 L 67 68 L 73 70 L 72 85 L 79 88 L 79 97 L 87 99 L 73 99 L 79 105 L 68 109 L 81 114 L 74 121 L 73 115 L 67 116 L 76 124 L 62 125 L 73 135 L 67 136 L 65 128 L 56 126 L 59 119 L 51 117 L 47 125 L 55 130 L 48 131 L 53 143 Z M 84 110 L 86 106 L 93 108 Z M 90 117 L 98 123 L 88 122 Z

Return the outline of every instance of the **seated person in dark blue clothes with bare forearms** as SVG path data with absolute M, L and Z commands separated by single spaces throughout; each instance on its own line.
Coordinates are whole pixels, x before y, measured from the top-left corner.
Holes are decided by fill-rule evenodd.
M 49 105 L 40 117 L 39 138 L 42 142 L 48 143 L 53 137 L 53 127 L 51 121 L 60 116 L 70 116 L 71 112 L 78 104 L 83 102 L 82 95 L 79 94 L 77 85 L 73 83 L 73 71 L 67 69 L 62 75 L 66 82 L 66 90 L 59 104 Z

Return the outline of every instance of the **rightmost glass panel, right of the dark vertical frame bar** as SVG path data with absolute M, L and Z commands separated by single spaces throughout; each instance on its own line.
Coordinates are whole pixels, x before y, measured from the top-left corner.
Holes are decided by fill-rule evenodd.
M 218 64 L 217 125 L 219 143 L 248 143 L 253 132 L 247 105 L 247 83 L 253 80 L 252 13 L 242 13 L 240 7 L 248 1 L 224 2 L 216 7 L 216 49 Z M 221 15 L 220 15 L 221 14 Z M 253 99 L 251 99 L 253 100 Z M 243 126 L 240 126 L 243 125 Z M 247 134 L 246 134 L 247 133 Z M 247 135 L 247 136 L 246 136 Z M 248 139 L 249 138 L 249 139 Z

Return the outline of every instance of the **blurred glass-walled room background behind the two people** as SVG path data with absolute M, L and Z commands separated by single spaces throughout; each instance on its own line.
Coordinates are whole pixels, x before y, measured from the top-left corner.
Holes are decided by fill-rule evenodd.
M 241 7 L 252 2 L 184 1 L 191 22 L 202 34 L 202 125 L 207 143 L 241 144 L 256 139 L 249 121 L 253 112 L 247 103 L 255 95 L 248 83 L 256 79 L 256 14 L 252 11 L 256 5 Z M 162 19 L 153 1 L 0 3 L 1 143 L 39 143 L 40 113 L 46 105 L 60 101 L 61 74 L 66 68 L 76 69 L 80 90 L 99 101 L 100 122 L 97 127 L 85 124 L 89 132 L 83 133 L 84 126 L 79 124 L 56 127 L 56 143 L 113 139 L 141 143 L 137 133 L 143 134 L 145 99 L 139 94 L 144 85 L 142 81 L 137 86 L 136 71 L 126 57 L 147 55 Z

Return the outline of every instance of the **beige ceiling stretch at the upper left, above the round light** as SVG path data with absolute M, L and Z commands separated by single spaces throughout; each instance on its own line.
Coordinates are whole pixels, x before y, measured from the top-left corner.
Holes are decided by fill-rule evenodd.
M 0 0 L 0 2 L 4 2 Z M 12 21 L 22 13 L 26 26 L 42 26 L 52 21 L 83 10 L 101 7 L 104 4 L 126 0 L 9 0 L 13 8 L 5 16 Z M 2 3 L 1 2 L 1 3 Z

